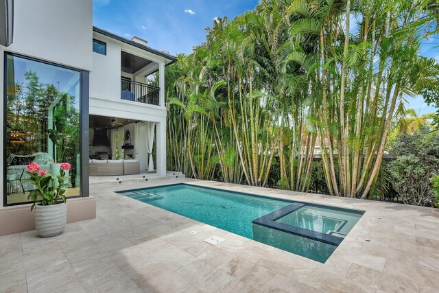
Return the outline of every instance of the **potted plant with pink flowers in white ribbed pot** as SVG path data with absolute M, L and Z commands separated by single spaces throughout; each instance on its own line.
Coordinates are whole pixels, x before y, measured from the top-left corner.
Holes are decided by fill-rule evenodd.
M 67 204 L 64 196 L 69 187 L 67 180 L 71 165 L 62 163 L 59 175 L 41 169 L 36 163 L 27 165 L 28 182 L 35 185 L 36 189 L 30 191 L 28 200 L 34 202 L 30 207 L 35 208 L 35 228 L 41 237 L 51 237 L 64 231 L 67 223 Z

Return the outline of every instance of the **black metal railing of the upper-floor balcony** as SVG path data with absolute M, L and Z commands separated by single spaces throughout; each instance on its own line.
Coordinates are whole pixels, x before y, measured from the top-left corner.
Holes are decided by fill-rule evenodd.
M 141 82 L 133 82 L 130 80 L 121 80 L 121 99 L 158 105 L 159 93 L 160 88 L 158 86 L 143 84 Z

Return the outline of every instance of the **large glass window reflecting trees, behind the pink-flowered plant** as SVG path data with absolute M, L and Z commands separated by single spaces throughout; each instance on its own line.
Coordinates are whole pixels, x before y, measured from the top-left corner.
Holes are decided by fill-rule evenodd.
M 27 164 L 59 174 L 70 163 L 66 196 L 80 195 L 80 71 L 6 55 L 6 203 L 27 202 Z

